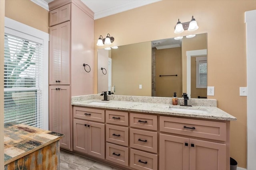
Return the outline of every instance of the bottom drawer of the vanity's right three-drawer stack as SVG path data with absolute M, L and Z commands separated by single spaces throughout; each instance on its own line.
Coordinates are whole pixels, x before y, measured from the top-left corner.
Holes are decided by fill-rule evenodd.
M 130 167 L 137 170 L 157 170 L 157 155 L 130 149 Z

